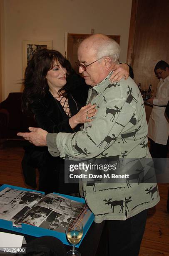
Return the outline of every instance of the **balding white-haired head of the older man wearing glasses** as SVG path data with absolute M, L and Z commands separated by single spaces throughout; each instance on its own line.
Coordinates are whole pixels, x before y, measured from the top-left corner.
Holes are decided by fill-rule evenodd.
M 84 66 L 79 68 L 79 72 L 85 78 L 86 84 L 94 86 L 102 82 L 118 63 L 119 53 L 119 45 L 102 34 L 89 36 L 82 41 L 77 54 Z

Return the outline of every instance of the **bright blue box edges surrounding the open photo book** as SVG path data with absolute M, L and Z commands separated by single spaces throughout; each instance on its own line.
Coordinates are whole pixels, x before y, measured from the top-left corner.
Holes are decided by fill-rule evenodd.
M 5 189 L 6 187 L 10 187 L 13 189 L 18 189 L 18 190 L 24 190 L 24 191 L 35 191 L 35 192 L 40 192 L 41 194 L 44 195 L 44 192 L 41 191 L 37 191 L 37 190 L 33 190 L 33 189 L 27 189 L 27 188 L 23 188 L 23 187 L 16 187 L 16 186 L 12 186 L 12 185 L 7 185 L 4 184 L 0 187 L 0 191 Z M 85 200 L 83 198 L 80 197 L 72 197 L 69 195 L 63 195 L 63 194 L 58 194 L 58 193 L 54 193 L 57 195 L 62 195 L 64 197 L 67 197 L 71 200 L 75 200 L 77 202 L 85 202 Z M 82 243 L 83 238 L 85 237 L 89 227 L 92 225 L 92 222 L 94 220 L 94 215 L 93 213 L 89 216 L 89 219 L 87 220 L 87 223 L 85 224 L 85 226 L 83 227 L 83 236 L 82 239 L 80 240 L 80 242 L 76 245 L 76 247 L 79 247 L 80 244 Z M 66 244 L 66 245 L 71 245 L 66 238 L 66 234 L 65 233 L 60 233 L 57 231 L 53 231 L 53 230 L 48 230 L 46 228 L 40 228 L 40 227 L 35 227 L 32 225 L 28 225 L 23 223 L 21 228 L 17 228 L 17 227 L 13 227 L 12 226 L 12 221 L 8 221 L 8 220 L 2 220 L 0 219 L 0 228 L 5 228 L 7 230 L 12 230 L 18 233 L 22 233 L 22 234 L 26 234 L 26 235 L 30 235 L 30 236 L 35 236 L 35 237 L 40 237 L 40 236 L 54 236 L 58 239 L 60 239 L 60 241 L 62 241 L 62 243 Z

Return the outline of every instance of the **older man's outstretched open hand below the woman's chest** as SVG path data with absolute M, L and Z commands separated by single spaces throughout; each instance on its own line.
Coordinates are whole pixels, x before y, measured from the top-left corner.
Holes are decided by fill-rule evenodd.
M 47 146 L 47 131 L 41 128 L 29 127 L 31 133 L 17 133 L 17 136 L 23 137 L 25 140 L 33 143 L 35 146 Z

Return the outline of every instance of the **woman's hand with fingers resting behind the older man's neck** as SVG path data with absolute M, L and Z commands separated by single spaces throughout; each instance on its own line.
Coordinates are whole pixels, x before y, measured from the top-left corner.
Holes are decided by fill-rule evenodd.
M 129 77 L 129 66 L 125 63 L 116 64 L 113 67 L 113 74 L 110 77 L 110 81 L 113 83 L 114 81 L 120 81 L 122 78 L 124 80 L 128 79 Z

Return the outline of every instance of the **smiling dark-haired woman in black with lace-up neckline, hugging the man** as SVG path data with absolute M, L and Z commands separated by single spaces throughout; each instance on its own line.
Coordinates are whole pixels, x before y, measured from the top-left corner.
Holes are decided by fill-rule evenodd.
M 80 131 L 80 124 L 92 121 L 96 113 L 94 105 L 82 107 L 88 87 L 82 77 L 73 74 L 58 51 L 42 49 L 32 56 L 25 71 L 24 86 L 23 111 L 33 113 L 37 125 L 50 133 Z M 78 192 L 78 184 L 64 184 L 64 160 L 52 157 L 47 147 L 30 145 L 25 149 L 22 160 L 25 177 L 29 177 L 27 166 L 29 171 L 31 164 L 40 171 L 39 190 L 45 194 Z

